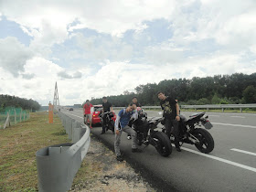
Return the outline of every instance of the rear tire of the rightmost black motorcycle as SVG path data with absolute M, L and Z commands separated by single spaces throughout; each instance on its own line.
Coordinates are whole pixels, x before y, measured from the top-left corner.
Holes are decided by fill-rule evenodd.
M 208 154 L 214 149 L 214 140 L 207 130 L 197 128 L 192 134 L 197 137 L 200 142 L 200 144 L 195 144 L 200 152 Z

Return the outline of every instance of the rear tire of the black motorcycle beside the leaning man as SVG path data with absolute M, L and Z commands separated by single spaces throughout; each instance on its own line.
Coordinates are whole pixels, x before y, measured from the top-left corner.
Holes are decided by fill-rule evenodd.
M 155 140 L 155 143 L 157 144 L 155 146 L 155 149 L 157 152 L 162 156 L 169 156 L 172 154 L 172 144 L 167 137 L 167 135 L 163 132 L 156 132 L 153 135 L 153 139 Z

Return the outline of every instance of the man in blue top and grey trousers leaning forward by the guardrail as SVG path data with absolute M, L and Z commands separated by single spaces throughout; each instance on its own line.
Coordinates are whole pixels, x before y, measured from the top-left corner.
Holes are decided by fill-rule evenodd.
M 121 134 L 123 132 L 129 133 L 132 136 L 132 152 L 142 152 L 141 149 L 137 147 L 137 133 L 128 126 L 128 123 L 132 116 L 136 119 L 137 111 L 136 105 L 131 103 L 126 109 L 121 110 L 118 112 L 118 115 L 115 120 L 114 128 L 115 128 L 115 141 L 114 141 L 114 151 L 116 155 L 116 159 L 118 161 L 123 161 L 123 157 L 121 156 L 120 152 L 120 143 L 121 143 Z M 133 112 L 135 110 L 135 112 Z

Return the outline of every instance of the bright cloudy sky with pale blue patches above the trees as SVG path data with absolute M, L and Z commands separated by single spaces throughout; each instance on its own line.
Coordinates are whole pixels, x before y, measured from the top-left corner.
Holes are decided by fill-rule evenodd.
M 256 72 L 255 0 L 0 0 L 0 94 L 60 105 Z

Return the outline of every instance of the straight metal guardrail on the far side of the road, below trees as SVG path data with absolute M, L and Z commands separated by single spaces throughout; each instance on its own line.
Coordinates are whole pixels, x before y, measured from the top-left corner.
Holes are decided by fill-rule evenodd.
M 123 109 L 124 107 L 114 107 L 115 110 Z M 161 110 L 160 106 L 143 106 L 144 109 L 154 109 L 154 110 Z M 224 112 L 225 109 L 240 109 L 240 112 L 242 112 L 242 109 L 247 108 L 256 108 L 256 104 L 208 104 L 208 105 L 180 105 L 180 109 L 222 109 L 222 112 Z

